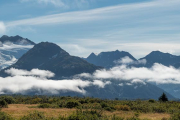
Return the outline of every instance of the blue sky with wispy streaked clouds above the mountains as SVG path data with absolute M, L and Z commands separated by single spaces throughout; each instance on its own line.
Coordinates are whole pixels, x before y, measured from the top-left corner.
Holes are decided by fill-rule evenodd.
M 180 0 L 1 0 L 0 35 L 54 42 L 71 55 L 180 55 Z

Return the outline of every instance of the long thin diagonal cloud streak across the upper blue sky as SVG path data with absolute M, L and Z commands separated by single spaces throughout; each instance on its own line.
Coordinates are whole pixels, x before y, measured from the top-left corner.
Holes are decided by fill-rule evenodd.
M 60 2 L 61 0 L 38 0 L 38 1 L 56 4 L 56 1 Z M 80 0 L 80 2 L 84 2 L 84 1 Z M 162 5 L 162 3 L 164 4 Z M 105 8 L 99 8 L 99 9 L 93 9 L 93 10 L 87 10 L 87 11 L 68 12 L 68 13 L 42 16 L 42 17 L 37 17 L 37 18 L 32 18 L 32 19 L 12 21 L 12 22 L 8 22 L 7 25 L 19 26 L 19 25 L 43 25 L 43 24 L 57 24 L 57 23 L 66 24 L 66 23 L 77 23 L 77 22 L 85 22 L 85 21 L 92 21 L 92 20 L 112 19 L 112 18 L 117 18 L 117 17 L 118 18 L 121 17 L 121 19 L 124 19 L 124 18 L 129 19 L 129 17 L 133 16 L 133 13 L 125 14 L 126 12 L 129 13 L 130 11 L 141 10 L 138 13 L 138 15 L 140 15 L 140 14 L 149 12 L 149 11 L 146 11 L 149 9 L 162 8 L 162 10 L 164 10 L 164 9 L 167 9 L 167 7 L 172 7 L 178 4 L 180 4 L 178 0 L 174 0 L 174 1 L 156 0 L 156 1 L 145 2 L 145 3 L 118 5 L 118 6 L 105 7 Z M 145 10 L 142 10 L 142 9 L 145 9 Z M 121 16 L 117 16 L 117 14 L 121 14 Z

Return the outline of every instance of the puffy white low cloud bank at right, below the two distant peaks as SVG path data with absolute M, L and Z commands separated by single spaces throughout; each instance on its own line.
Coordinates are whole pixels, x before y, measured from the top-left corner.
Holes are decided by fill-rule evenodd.
M 110 70 L 97 70 L 93 74 L 83 73 L 79 77 L 91 79 L 116 79 L 132 82 L 134 80 L 144 82 L 155 82 L 156 84 L 180 84 L 180 69 L 172 66 L 167 67 L 155 63 L 151 68 L 117 66 Z

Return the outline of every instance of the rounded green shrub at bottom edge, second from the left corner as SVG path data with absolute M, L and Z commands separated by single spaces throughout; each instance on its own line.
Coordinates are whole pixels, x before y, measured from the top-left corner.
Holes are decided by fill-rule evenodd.
M 47 120 L 42 112 L 35 111 L 27 116 L 23 116 L 20 120 Z

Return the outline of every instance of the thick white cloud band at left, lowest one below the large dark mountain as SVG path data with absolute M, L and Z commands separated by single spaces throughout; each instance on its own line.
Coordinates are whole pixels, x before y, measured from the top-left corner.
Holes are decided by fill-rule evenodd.
M 42 89 L 51 94 L 58 94 L 61 90 L 74 91 L 85 94 L 84 87 L 90 85 L 89 81 L 82 80 L 47 80 L 33 76 L 14 76 L 1 78 L 0 91 L 10 91 L 12 93 L 25 93 L 28 90 Z M 54 92 L 56 91 L 56 92 Z M 59 92 L 58 92 L 59 91 Z

